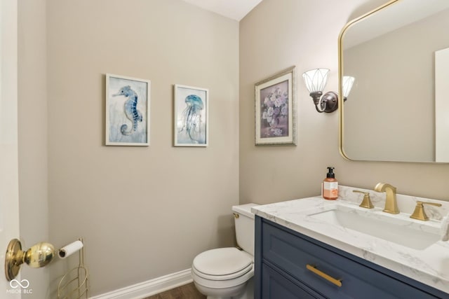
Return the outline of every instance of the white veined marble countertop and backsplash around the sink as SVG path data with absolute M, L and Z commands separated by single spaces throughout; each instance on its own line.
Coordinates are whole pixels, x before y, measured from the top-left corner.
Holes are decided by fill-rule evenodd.
M 375 209 L 358 208 L 363 195 L 353 193 L 352 190 L 369 192 Z M 251 208 L 251 211 L 257 216 L 267 218 L 286 228 L 449 293 L 449 202 L 397 195 L 401 213 L 388 214 L 389 217 L 411 220 L 415 228 L 436 229 L 441 234 L 441 239 L 427 248 L 413 249 L 356 230 L 330 225 L 326 221 L 309 216 L 317 211 L 332 209 L 336 204 L 355 207 L 360 209 L 361 213 L 385 214 L 382 212 L 385 201 L 384 193 L 340 186 L 339 195 L 337 200 L 323 200 L 321 196 L 307 197 L 300 200 L 255 206 Z M 429 221 L 410 219 L 409 216 L 413 213 L 417 200 L 438 202 L 442 204 L 442 207 L 426 206 L 427 216 L 431 218 Z M 428 209 L 428 207 L 430 208 Z

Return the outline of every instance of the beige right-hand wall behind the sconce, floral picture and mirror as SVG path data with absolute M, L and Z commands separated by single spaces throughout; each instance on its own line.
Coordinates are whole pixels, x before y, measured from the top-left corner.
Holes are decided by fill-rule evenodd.
M 340 184 L 373 189 L 387 181 L 399 193 L 448 199 L 448 165 L 351 162 L 338 152 L 337 113 L 317 113 L 302 81 L 308 69 L 330 69 L 337 90 L 337 39 L 344 24 L 382 0 L 264 0 L 240 22 L 240 201 L 280 202 L 320 193 L 326 167 Z M 254 84 L 297 67 L 297 146 L 254 145 Z M 374 141 L 382 144 L 382 139 Z

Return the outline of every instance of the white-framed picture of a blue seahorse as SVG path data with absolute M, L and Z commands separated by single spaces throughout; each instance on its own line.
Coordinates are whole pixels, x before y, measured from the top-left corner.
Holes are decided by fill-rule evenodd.
M 106 145 L 149 146 L 151 81 L 106 74 Z

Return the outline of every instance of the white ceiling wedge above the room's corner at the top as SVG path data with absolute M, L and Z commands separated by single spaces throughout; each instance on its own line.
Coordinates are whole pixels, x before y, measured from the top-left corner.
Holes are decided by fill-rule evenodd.
M 262 0 L 183 0 L 206 11 L 240 21 Z

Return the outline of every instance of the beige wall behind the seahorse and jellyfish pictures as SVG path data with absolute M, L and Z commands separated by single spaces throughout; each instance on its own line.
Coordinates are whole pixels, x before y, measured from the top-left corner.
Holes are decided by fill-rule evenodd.
M 91 295 L 234 244 L 239 23 L 180 0 L 48 0 L 47 22 L 50 237 L 85 238 Z M 151 146 L 104 145 L 106 73 L 152 81 Z M 175 83 L 210 91 L 207 148 L 173 147 Z

